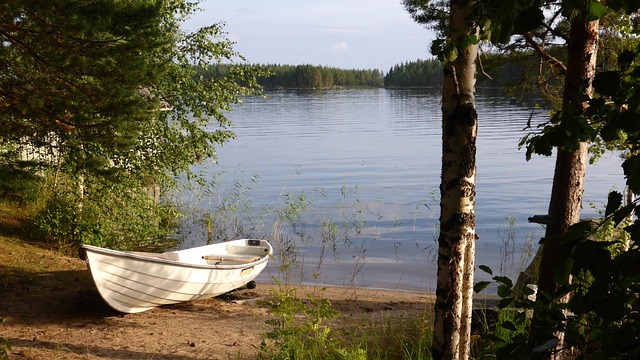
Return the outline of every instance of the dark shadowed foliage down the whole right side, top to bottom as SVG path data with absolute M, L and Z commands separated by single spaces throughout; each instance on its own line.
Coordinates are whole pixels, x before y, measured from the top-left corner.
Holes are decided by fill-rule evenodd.
M 441 24 L 438 21 L 445 18 L 439 15 L 442 12 L 437 11 L 438 6 L 443 8 L 441 2 L 405 1 L 405 5 L 407 3 L 410 4 L 408 9 L 414 18 L 422 19 L 423 23 Z M 515 43 L 516 46 L 526 44 L 540 56 L 541 64 L 548 66 L 549 74 L 553 78 L 564 75 L 567 66 L 575 65 L 564 65 L 561 59 L 554 56 L 553 50 L 566 46 L 569 39 L 569 23 L 576 18 L 578 12 L 584 11 L 584 17 L 589 21 L 600 20 L 606 25 L 605 29 L 622 24 L 623 27 L 619 30 L 609 32 L 612 35 L 610 39 L 618 40 L 616 37 L 623 38 L 631 33 L 628 38 L 623 39 L 625 41 L 609 42 L 623 43 L 629 50 L 620 51 L 618 48 L 606 53 L 607 58 L 602 60 L 605 71 L 596 75 L 593 83 L 598 95 L 593 99 L 584 99 L 588 101 L 588 109 L 583 111 L 580 99 L 576 101 L 565 97 L 563 103 L 567 106 L 553 115 L 540 135 L 530 135 L 522 145 L 527 144 L 527 158 L 533 153 L 551 155 L 554 147 L 575 151 L 579 143 L 588 141 L 601 141 L 608 148 L 628 149 L 629 155 L 623 168 L 629 188 L 637 193 L 640 190 L 640 160 L 636 150 L 640 144 L 637 135 L 640 130 L 635 120 L 640 111 L 640 102 L 636 99 L 640 72 L 635 64 L 640 47 L 633 41 L 638 33 L 637 15 L 633 13 L 640 8 L 640 3 L 545 0 L 519 0 L 508 3 L 487 0 L 473 3 L 474 7 L 467 21 L 470 28 L 479 29 L 478 36 L 469 33 L 458 42 L 434 42 L 432 51 L 440 59 L 451 61 L 457 57 L 462 46 L 478 40 L 490 41 L 493 44 Z M 628 16 L 620 17 L 622 14 Z M 618 22 L 617 18 L 621 20 Z M 440 26 L 440 29 L 444 27 Z M 629 39 L 632 41 L 627 41 Z M 547 46 L 556 43 L 562 45 Z M 514 46 L 512 51 L 513 49 L 517 47 Z M 620 55 L 617 56 L 616 53 Z M 617 69 L 616 66 L 612 68 L 610 64 L 610 59 L 616 56 Z M 584 80 L 584 85 L 589 86 L 591 80 Z M 618 225 L 631 213 L 635 206 L 633 204 L 616 211 L 621 198 L 619 194 L 610 197 L 606 215 L 611 218 L 603 224 L 613 221 Z M 557 254 L 558 261 L 554 270 L 559 288 L 553 293 L 538 294 L 537 301 L 532 302 L 525 297 L 530 294 L 530 289 L 525 288 L 521 294 L 515 293 L 509 279 L 496 276 L 494 280 L 500 284 L 498 292 L 502 297 L 500 307 L 534 309 L 533 323 L 547 328 L 548 333 L 566 333 L 568 346 L 579 348 L 583 357 L 636 358 L 640 351 L 637 345 L 640 268 L 637 238 L 640 237 L 634 235 L 635 223 L 625 227 L 624 231 L 630 233 L 628 236 L 632 243 L 621 246 L 622 241 L 597 242 L 590 239 L 589 235 L 594 229 L 593 224 L 589 222 L 572 226 L 564 236 L 560 244 L 561 251 Z M 621 248 L 625 251 L 621 251 Z M 486 268 L 485 270 L 489 271 Z M 569 281 L 571 277 L 573 282 Z M 486 285 L 480 283 L 477 289 Z M 572 294 L 569 303 L 562 304 L 558 301 L 569 293 Z M 524 326 L 525 320 L 525 317 L 518 317 L 518 325 Z M 518 328 L 513 322 L 510 324 L 512 330 Z M 526 336 L 514 336 L 507 342 L 500 338 L 493 340 L 503 344 L 498 352 L 503 358 L 546 357 L 546 353 L 560 343 L 560 339 L 549 338 L 545 339 L 544 343 L 531 344 Z

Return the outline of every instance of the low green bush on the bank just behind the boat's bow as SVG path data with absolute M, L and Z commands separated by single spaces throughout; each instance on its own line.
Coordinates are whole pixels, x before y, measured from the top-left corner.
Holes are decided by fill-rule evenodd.
M 164 235 L 170 219 L 177 216 L 175 209 L 157 203 L 149 193 L 153 188 L 127 180 L 100 183 L 98 179 L 88 186 L 85 196 L 91 201 L 87 202 L 76 191 L 43 186 L 41 196 L 47 201 L 34 216 L 32 236 L 61 248 L 71 247 L 71 252 L 81 244 L 129 249 L 167 243 Z

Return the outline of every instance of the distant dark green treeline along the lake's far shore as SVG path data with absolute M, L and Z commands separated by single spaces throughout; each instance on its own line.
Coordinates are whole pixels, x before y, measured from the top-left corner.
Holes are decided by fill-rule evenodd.
M 521 67 L 507 62 L 487 59 L 493 64 L 487 76 L 478 76 L 479 85 L 501 86 L 517 82 L 522 76 Z M 347 86 L 385 87 L 439 87 L 442 86 L 442 63 L 437 59 L 407 61 L 397 64 L 384 74 L 378 69 L 338 69 L 315 65 L 252 65 L 270 74 L 258 79 L 265 89 L 327 89 Z M 226 76 L 231 67 L 227 64 L 210 65 L 203 69 L 206 77 Z M 485 69 L 486 70 L 486 69 Z

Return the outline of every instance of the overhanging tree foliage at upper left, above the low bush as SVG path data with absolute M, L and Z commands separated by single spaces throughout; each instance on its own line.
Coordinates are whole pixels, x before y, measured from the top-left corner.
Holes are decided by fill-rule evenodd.
M 9 71 L 0 78 L 0 137 L 41 145 L 55 134 L 69 146 L 64 155 L 103 159 L 103 167 L 139 163 L 131 150 L 153 153 L 152 167 L 170 170 L 215 156 L 213 145 L 231 136 L 223 111 L 258 90 L 259 71 L 203 81 L 196 65 L 244 59 L 222 24 L 182 32 L 181 19 L 196 9 L 183 1 L 11 0 L 0 14 Z M 211 120 L 222 128 L 204 129 Z

